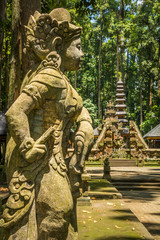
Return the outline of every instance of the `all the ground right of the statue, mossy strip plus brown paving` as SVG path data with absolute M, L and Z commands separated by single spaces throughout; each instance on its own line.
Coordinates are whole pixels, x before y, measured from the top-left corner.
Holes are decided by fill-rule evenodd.
M 88 168 L 88 172 L 93 179 L 102 179 L 102 168 Z M 79 239 L 160 239 L 160 168 L 112 168 L 111 177 L 123 199 L 92 197 L 91 206 L 78 206 Z M 95 183 L 93 186 L 97 188 Z M 107 189 L 113 193 L 112 186 L 105 190 L 101 184 L 101 191 Z M 0 193 L 1 199 L 5 190 Z

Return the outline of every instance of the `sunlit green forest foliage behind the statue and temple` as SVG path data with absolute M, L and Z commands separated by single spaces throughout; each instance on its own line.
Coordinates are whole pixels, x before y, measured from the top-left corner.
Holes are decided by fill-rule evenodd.
M 121 17 L 121 2 L 117 0 L 41 0 L 42 12 L 50 12 L 56 7 L 69 10 L 72 23 L 82 26 L 82 48 L 84 61 L 82 68 L 68 73 L 73 86 L 85 100 L 94 122 L 97 124 L 98 106 L 98 63 L 99 40 L 101 49 L 101 113 L 103 117 L 106 102 L 115 100 L 117 79 L 117 47 L 119 50 L 119 75 L 124 69 L 125 90 L 129 119 L 140 125 L 140 89 L 142 89 L 142 130 L 146 133 L 160 120 L 158 82 L 160 85 L 160 2 L 158 0 L 125 0 L 124 18 Z M 8 20 L 5 26 L 7 55 L 3 54 L 2 85 L 6 80 L 6 64 L 9 69 L 11 0 L 7 1 Z M 117 34 L 119 45 L 117 46 Z M 124 53 L 121 39 L 124 39 Z M 124 58 L 124 62 L 122 62 Z M 123 64 L 122 64 L 123 63 Z M 159 89 L 158 89 L 159 88 Z M 6 101 L 3 95 L 3 102 Z M 95 108 L 96 106 L 96 108 Z

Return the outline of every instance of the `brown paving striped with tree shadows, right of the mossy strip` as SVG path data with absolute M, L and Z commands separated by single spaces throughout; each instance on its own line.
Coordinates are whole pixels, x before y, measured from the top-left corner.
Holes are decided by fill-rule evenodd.
M 102 168 L 88 168 L 93 178 L 103 176 Z M 160 168 L 111 168 L 112 183 L 140 222 L 160 239 Z

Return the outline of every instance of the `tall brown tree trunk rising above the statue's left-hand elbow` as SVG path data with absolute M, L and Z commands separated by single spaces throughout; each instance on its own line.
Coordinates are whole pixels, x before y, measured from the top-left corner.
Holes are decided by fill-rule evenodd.
M 8 107 L 19 96 L 21 72 L 20 0 L 12 0 L 12 46 Z

